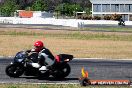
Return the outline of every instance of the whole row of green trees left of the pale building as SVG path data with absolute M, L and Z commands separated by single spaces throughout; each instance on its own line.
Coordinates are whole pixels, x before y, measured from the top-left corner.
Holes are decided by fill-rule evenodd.
M 89 0 L 4 0 L 0 3 L 0 15 L 12 16 L 16 10 L 50 11 L 73 16 L 77 11 L 91 10 Z

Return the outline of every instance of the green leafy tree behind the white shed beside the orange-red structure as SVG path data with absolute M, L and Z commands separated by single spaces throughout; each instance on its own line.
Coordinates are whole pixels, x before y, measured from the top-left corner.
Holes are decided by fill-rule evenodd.
M 47 6 L 44 3 L 44 0 L 36 0 L 33 2 L 31 9 L 33 11 L 44 11 L 47 10 Z

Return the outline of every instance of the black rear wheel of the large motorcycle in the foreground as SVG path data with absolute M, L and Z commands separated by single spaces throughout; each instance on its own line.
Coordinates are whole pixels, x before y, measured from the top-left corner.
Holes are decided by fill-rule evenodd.
M 55 72 L 54 72 L 54 74 L 52 74 L 52 76 L 54 78 L 65 78 L 70 74 L 70 72 L 71 72 L 71 68 L 70 68 L 69 64 L 64 64 L 64 65 L 61 65 L 60 68 L 55 70 Z

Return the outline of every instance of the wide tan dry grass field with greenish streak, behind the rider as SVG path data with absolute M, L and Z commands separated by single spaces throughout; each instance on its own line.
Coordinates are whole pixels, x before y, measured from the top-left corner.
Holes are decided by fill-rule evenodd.
M 0 55 L 13 56 L 20 50 L 33 48 L 36 40 L 42 40 L 54 55 L 69 53 L 77 58 L 130 59 L 131 36 L 131 33 L 0 28 Z

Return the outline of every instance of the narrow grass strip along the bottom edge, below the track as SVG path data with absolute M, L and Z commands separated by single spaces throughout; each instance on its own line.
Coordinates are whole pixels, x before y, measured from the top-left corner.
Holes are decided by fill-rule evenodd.
M 132 88 L 128 85 L 118 85 L 118 86 L 110 86 L 110 85 L 91 85 L 82 87 L 79 84 L 1 84 L 0 88 Z

